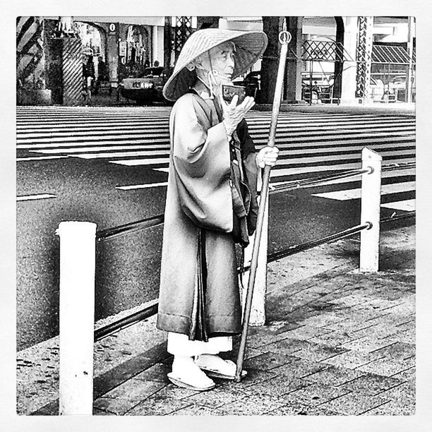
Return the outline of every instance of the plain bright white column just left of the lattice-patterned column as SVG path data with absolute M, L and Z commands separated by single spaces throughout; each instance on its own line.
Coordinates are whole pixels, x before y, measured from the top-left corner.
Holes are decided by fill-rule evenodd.
M 351 60 L 344 61 L 342 71 L 341 104 L 351 104 L 356 100 L 356 45 L 357 45 L 357 17 L 344 17 L 344 49 Z

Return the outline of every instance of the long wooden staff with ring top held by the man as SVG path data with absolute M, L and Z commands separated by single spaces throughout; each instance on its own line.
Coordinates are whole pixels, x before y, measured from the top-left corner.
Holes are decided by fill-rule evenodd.
M 277 69 L 277 79 L 275 87 L 275 97 L 273 99 L 272 121 L 270 124 L 270 134 L 268 136 L 268 146 L 275 145 L 275 135 L 277 126 L 277 117 L 279 116 L 280 101 L 282 99 L 282 83 L 284 78 L 285 60 L 287 59 L 288 43 L 291 40 L 291 35 L 287 32 L 287 24 L 284 21 L 282 32 L 279 33 L 279 42 L 282 44 L 280 49 L 279 68 Z M 265 202 L 268 196 L 268 182 L 270 180 L 270 165 L 265 165 L 263 174 L 263 186 L 260 193 L 260 206 L 258 208 L 258 217 L 256 222 L 255 240 L 253 241 L 253 251 L 251 258 L 251 270 L 249 270 L 248 289 L 246 294 L 246 305 L 244 308 L 243 328 L 241 330 L 241 340 L 239 354 L 237 355 L 237 368 L 235 381 L 239 383 L 241 380 L 241 370 L 243 367 L 244 352 L 246 349 L 246 337 L 248 335 L 249 318 L 251 317 L 252 294 L 255 285 L 256 268 L 258 265 L 258 252 L 260 250 L 261 232 L 263 231 L 263 220 Z

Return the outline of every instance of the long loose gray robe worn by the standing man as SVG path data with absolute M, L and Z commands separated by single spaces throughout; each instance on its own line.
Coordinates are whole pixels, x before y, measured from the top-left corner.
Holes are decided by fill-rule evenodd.
M 205 90 L 199 85 L 196 88 L 205 97 Z M 201 227 L 207 270 L 205 324 L 211 337 L 241 332 L 241 305 L 231 234 L 229 142 L 213 101 L 205 102 L 198 103 L 191 93 L 183 95 L 174 104 L 170 117 L 171 152 L 157 328 L 186 335 L 191 331 Z M 245 163 L 247 175 L 256 177 L 255 154 L 249 154 Z

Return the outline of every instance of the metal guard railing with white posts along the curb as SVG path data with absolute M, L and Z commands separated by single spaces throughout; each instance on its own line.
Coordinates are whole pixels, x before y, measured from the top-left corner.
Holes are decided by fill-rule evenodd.
M 304 244 L 289 246 L 284 251 L 267 255 L 267 263 L 294 255 L 307 249 L 330 243 L 339 239 L 361 233 L 360 270 L 378 270 L 378 240 L 380 223 L 390 222 L 406 217 L 413 217 L 415 212 L 404 215 L 392 215 L 380 220 L 380 176 L 381 171 L 407 169 L 415 167 L 412 162 L 390 164 L 381 167 L 381 157 L 364 148 L 362 151 L 362 167 L 350 169 L 337 174 L 320 176 L 312 179 L 290 181 L 273 186 L 272 192 L 288 191 L 298 188 L 317 186 L 328 181 L 363 175 L 361 185 L 361 222 L 355 227 L 342 232 L 330 234 L 322 239 L 308 241 Z M 364 176 L 364 174 L 367 174 Z M 368 180 L 371 177 L 371 180 Z M 144 220 L 124 224 L 119 227 L 96 232 L 96 224 L 91 222 L 61 222 L 57 234 L 60 242 L 60 413 L 91 414 L 92 407 L 92 353 L 93 344 L 97 340 L 113 335 L 115 332 L 150 318 L 157 313 L 157 303 L 145 306 L 129 316 L 116 320 L 94 330 L 95 301 L 95 244 L 96 241 L 107 241 L 117 236 L 131 234 L 142 229 L 163 224 L 164 215 L 149 217 Z M 366 232 L 370 234 L 365 234 Z M 263 231 L 262 236 L 267 236 Z M 265 243 L 267 239 L 265 238 Z M 84 245 L 84 251 L 82 251 Z M 364 246 L 365 245 L 365 246 Z M 77 253 L 78 251 L 78 253 Z M 258 257 L 259 259 L 259 257 Z M 265 272 L 265 266 L 264 272 Z M 242 268 L 247 272 L 248 265 Z M 265 278 L 264 278 L 265 281 Z M 265 283 L 265 282 L 264 282 Z M 263 296 L 263 304 L 265 297 Z M 263 306 L 264 307 L 264 306 Z M 80 319 L 77 320 L 77 316 Z M 78 321 L 78 322 L 77 322 Z M 90 330 L 91 329 L 91 330 Z M 89 337 L 91 335 L 91 337 Z M 85 395 L 85 397 L 82 397 Z

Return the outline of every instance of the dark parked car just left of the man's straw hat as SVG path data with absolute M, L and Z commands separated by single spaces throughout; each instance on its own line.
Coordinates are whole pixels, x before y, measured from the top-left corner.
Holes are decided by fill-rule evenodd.
M 173 68 L 157 66 L 145 68 L 136 78 L 124 78 L 120 83 L 120 94 L 138 104 L 149 102 L 168 102 L 162 95 L 162 89 Z

